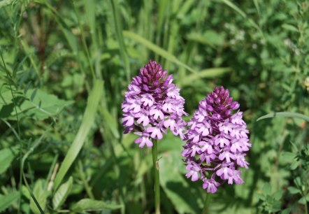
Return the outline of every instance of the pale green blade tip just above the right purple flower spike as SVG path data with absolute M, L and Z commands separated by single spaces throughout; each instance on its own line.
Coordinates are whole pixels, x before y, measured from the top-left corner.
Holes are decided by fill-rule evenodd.
M 187 76 L 187 78 L 181 80 L 180 85 L 190 85 L 193 83 L 194 80 L 200 78 L 214 78 L 216 76 L 220 76 L 224 73 L 231 71 L 230 68 L 213 68 L 213 69 L 204 69 L 199 71 L 199 73 L 192 73 L 191 75 Z

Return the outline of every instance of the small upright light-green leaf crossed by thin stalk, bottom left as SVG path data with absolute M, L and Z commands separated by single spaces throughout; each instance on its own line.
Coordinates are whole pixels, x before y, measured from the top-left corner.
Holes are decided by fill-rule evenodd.
M 48 194 L 43 189 L 43 181 L 41 179 L 36 181 L 36 184 L 34 185 L 33 194 L 34 194 L 34 197 L 36 198 L 36 201 L 38 201 L 38 204 L 41 206 L 42 210 L 44 211 Z M 38 214 L 41 213 L 32 198 L 30 199 L 30 208 L 31 208 L 31 211 L 33 211 L 34 213 L 38 213 Z

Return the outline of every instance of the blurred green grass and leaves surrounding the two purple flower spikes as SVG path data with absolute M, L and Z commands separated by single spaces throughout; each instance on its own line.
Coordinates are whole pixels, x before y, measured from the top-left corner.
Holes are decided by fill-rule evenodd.
M 308 212 L 308 1 L 2 0 L 0 20 L 0 212 L 153 213 L 151 151 L 120 120 L 149 59 L 187 113 L 215 85 L 244 111 L 250 169 L 210 213 Z M 257 122 L 280 111 L 302 115 Z M 182 145 L 159 142 L 161 213 L 199 213 L 206 196 Z

